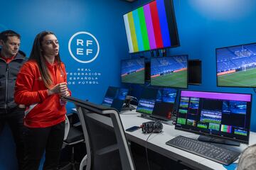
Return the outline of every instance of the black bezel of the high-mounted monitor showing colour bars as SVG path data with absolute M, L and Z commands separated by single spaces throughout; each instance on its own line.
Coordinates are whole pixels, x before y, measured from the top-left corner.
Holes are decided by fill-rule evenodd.
M 146 2 L 146 3 L 142 4 L 141 6 L 139 6 L 137 8 L 134 8 L 132 11 L 137 10 L 138 8 L 140 8 L 142 6 L 145 6 L 146 4 L 150 4 L 152 1 L 156 1 L 156 0 L 151 0 L 149 2 Z M 179 40 L 179 37 L 178 37 L 178 26 L 177 26 L 177 22 L 176 22 L 175 9 L 174 9 L 174 1 L 173 0 L 171 0 L 171 8 L 173 9 L 172 19 L 173 19 L 174 24 L 175 24 L 174 29 L 176 30 L 177 45 L 173 45 L 173 46 L 170 46 L 170 47 L 154 48 L 154 49 L 150 49 L 150 50 L 143 50 L 143 51 L 137 51 L 137 52 L 129 52 L 129 48 L 128 48 L 129 54 L 136 54 L 136 53 L 139 53 L 139 52 L 148 52 L 148 51 L 154 51 L 154 50 L 163 50 L 163 49 L 166 49 L 166 48 L 173 48 L 173 47 L 181 46 L 181 43 L 180 43 L 180 40 Z M 132 11 L 129 11 L 127 13 L 130 13 Z M 126 15 L 127 13 L 124 13 L 123 16 Z M 126 28 L 124 28 L 124 30 L 125 30 L 125 35 L 127 35 Z M 129 46 L 128 42 L 127 42 L 127 45 Z

